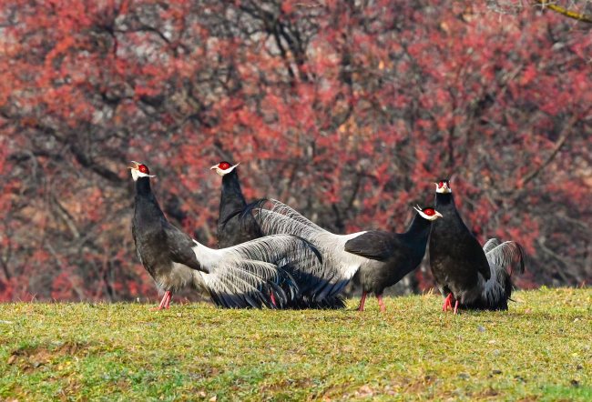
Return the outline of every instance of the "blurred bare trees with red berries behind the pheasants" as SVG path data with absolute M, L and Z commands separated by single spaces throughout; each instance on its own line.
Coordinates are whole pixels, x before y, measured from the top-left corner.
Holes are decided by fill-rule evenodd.
M 222 160 L 336 233 L 403 231 L 453 176 L 481 242 L 525 246 L 518 286 L 589 285 L 592 24 L 539 3 L 3 1 L 0 300 L 157 296 L 129 160 L 210 246 Z

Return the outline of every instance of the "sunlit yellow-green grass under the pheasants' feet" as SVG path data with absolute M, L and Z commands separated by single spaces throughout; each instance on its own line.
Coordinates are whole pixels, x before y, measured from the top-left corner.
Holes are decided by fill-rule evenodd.
M 592 400 L 592 289 L 507 312 L 435 295 L 363 313 L 0 305 L 1 400 Z M 156 303 L 156 301 L 155 301 Z

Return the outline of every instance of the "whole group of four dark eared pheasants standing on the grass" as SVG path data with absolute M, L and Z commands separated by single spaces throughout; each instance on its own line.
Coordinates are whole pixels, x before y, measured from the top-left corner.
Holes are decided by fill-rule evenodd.
M 213 249 L 168 222 L 150 188 L 148 166 L 132 164 L 132 234 L 140 262 L 164 291 L 158 309 L 168 308 L 173 293 L 186 286 L 219 307 L 342 308 L 343 288 L 357 276 L 359 310 L 373 293 L 384 311 L 384 289 L 420 265 L 428 241 L 443 311 L 505 310 L 512 275 L 524 271 L 518 243 L 492 238 L 479 244 L 454 206 L 448 180 L 436 183 L 434 206 L 414 207 L 403 233 L 336 235 L 280 201 L 248 204 L 238 165 L 220 162 L 211 167 L 222 176 L 219 248 Z

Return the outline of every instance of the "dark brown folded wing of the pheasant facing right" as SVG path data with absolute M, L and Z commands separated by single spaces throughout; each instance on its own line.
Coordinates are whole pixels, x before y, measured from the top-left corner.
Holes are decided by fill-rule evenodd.
M 378 261 L 387 260 L 393 256 L 393 249 L 402 247 L 403 244 L 397 236 L 380 230 L 368 231 L 345 243 L 345 251 L 348 253 Z

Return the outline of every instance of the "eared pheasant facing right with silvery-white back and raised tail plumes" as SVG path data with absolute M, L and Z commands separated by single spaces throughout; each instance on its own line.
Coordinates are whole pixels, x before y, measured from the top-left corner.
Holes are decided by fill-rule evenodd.
M 376 296 L 381 311 L 386 310 L 384 289 L 419 266 L 424 258 L 430 226 L 442 217 L 432 206 L 416 206 L 413 220 L 404 233 L 368 230 L 335 235 L 278 200 L 270 199 L 270 203 L 270 208 L 254 208 L 264 234 L 300 236 L 322 254 L 321 266 L 311 266 L 306 273 L 299 273 L 303 277 L 294 276 L 301 294 L 322 300 L 339 294 L 357 276 L 362 285 L 360 311 L 364 309 L 368 293 Z

